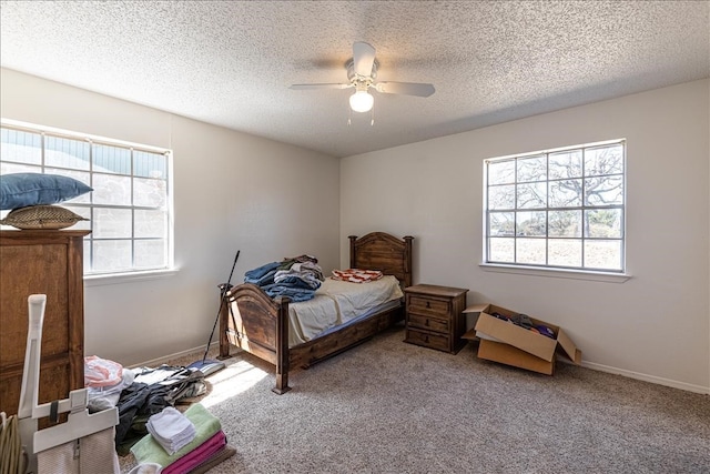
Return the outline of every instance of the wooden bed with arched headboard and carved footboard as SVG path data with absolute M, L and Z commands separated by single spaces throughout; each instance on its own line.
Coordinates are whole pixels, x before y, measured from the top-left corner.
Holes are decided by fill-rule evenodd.
M 349 239 L 351 269 L 376 270 L 385 276 L 383 280 L 396 279 L 398 289 L 412 285 L 412 241 L 413 236 L 398 239 L 385 232 L 371 232 L 367 235 Z M 326 281 L 328 279 L 326 278 Z M 336 313 L 344 301 L 351 297 L 345 294 L 338 300 L 336 291 L 349 286 L 362 292 L 371 283 L 325 284 L 316 299 L 323 302 L 339 301 L 331 310 Z M 332 293 L 332 294 L 331 294 Z M 276 385 L 272 389 L 277 394 L 291 390 L 288 371 L 296 367 L 308 367 L 316 362 L 351 349 L 378 332 L 390 327 L 404 319 L 404 299 L 399 297 L 366 314 L 351 314 L 344 324 L 327 327 L 321 334 L 290 335 L 294 332 L 294 309 L 297 313 L 304 306 L 313 306 L 315 302 L 292 303 L 288 297 L 270 297 L 260 286 L 243 283 L 230 289 L 224 296 L 220 311 L 220 359 L 230 357 L 232 345 L 242 349 L 276 366 Z M 332 304 L 332 303 L 327 303 Z M 293 307 L 291 307 L 293 306 Z M 325 314 L 325 313 L 321 313 Z M 337 314 L 333 321 L 341 322 Z M 327 315 L 324 315 L 327 319 Z M 306 331 L 308 332 L 308 331 Z M 313 332 L 313 331 L 311 331 Z

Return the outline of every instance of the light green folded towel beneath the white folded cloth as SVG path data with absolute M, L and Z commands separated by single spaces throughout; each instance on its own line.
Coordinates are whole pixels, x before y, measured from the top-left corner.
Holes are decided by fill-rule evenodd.
M 180 448 L 175 454 L 169 455 L 152 435 L 146 434 L 131 447 L 131 453 L 133 453 L 135 461 L 138 461 L 139 464 L 158 463 L 161 466 L 166 467 L 185 456 L 222 430 L 220 420 L 207 412 L 207 410 L 200 403 L 191 405 L 185 411 L 184 415 L 192 422 L 192 424 L 194 424 L 197 432 L 192 442 Z

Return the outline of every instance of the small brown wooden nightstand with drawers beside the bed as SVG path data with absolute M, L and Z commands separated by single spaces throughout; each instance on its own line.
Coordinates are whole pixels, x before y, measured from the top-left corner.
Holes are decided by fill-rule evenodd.
M 468 290 L 418 284 L 406 295 L 405 342 L 456 354 L 466 345 L 464 309 Z

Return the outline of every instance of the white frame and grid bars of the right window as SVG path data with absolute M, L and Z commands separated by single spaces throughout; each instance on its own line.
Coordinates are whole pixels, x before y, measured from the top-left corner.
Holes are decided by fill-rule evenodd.
M 489 184 L 489 177 L 488 177 L 488 171 L 489 171 L 489 164 L 491 163 L 499 163 L 499 162 L 504 162 L 504 161 L 514 161 L 515 164 L 515 169 L 516 169 L 516 175 L 514 181 L 511 182 L 511 184 L 515 184 L 516 186 L 516 202 L 513 205 L 513 208 L 510 208 L 509 212 L 511 213 L 516 213 L 516 212 L 527 212 L 529 211 L 526 208 L 520 208 L 518 205 L 518 200 L 517 200 L 517 189 L 518 186 L 521 184 L 521 182 L 518 180 L 518 175 L 517 175 L 517 163 L 518 160 L 525 160 L 525 159 L 530 159 L 534 157 L 545 157 L 545 160 L 547 162 L 547 164 L 549 165 L 549 155 L 554 154 L 554 153 L 560 153 L 560 152 L 569 152 L 569 151 L 575 151 L 575 150 L 580 150 L 582 152 L 582 162 L 584 162 L 584 152 L 585 150 L 594 150 L 594 149 L 598 149 L 598 148 L 602 148 L 602 147 L 608 147 L 608 145 L 615 145 L 615 144 L 619 144 L 622 147 L 622 170 L 620 173 L 621 177 L 621 183 L 622 183 L 622 198 L 621 198 L 621 203 L 620 204 L 615 204 L 612 206 L 607 206 L 607 205 L 589 205 L 586 202 L 580 203 L 580 205 L 576 206 L 577 210 L 581 210 L 582 213 L 585 211 L 589 211 L 589 210 L 598 210 L 598 209 L 609 209 L 609 208 L 613 208 L 615 210 L 620 211 L 621 214 L 621 223 L 620 223 L 620 238 L 618 238 L 617 240 L 620 241 L 620 268 L 619 269 L 595 269 L 595 268 L 589 268 L 589 266 L 585 266 L 584 265 L 584 260 L 581 265 L 555 265 L 555 264 L 549 264 L 549 241 L 554 240 L 555 236 L 550 236 L 550 231 L 549 231 L 549 226 L 547 225 L 548 223 L 548 213 L 549 211 L 557 211 L 559 210 L 558 208 L 554 208 L 550 206 L 549 203 L 549 193 L 546 195 L 546 203 L 544 206 L 540 208 L 536 208 L 535 211 L 538 212 L 544 212 L 546 215 L 546 226 L 545 226 L 545 234 L 542 236 L 539 236 L 538 239 L 544 240 L 545 241 L 545 249 L 546 249 L 546 262 L 544 264 L 540 263 L 519 263 L 517 261 L 495 261 L 494 259 L 490 258 L 490 240 L 491 238 L 495 238 L 496 235 L 490 235 L 490 214 L 491 214 L 491 210 L 489 209 L 489 191 L 490 188 L 493 185 Z M 609 141 L 604 141 L 604 142 L 595 142 L 595 143 L 585 143 L 585 144 L 578 144 L 578 145 L 571 145 L 571 147 L 564 147 L 564 148 L 557 148 L 557 149 L 549 149 L 549 150 L 540 150 L 540 151 L 535 151 L 535 152 L 529 152 L 529 153 L 520 153 L 520 154 L 514 154 L 514 155 L 506 155 L 506 157 L 497 157 L 497 158 L 490 158 L 490 159 L 486 159 L 484 160 L 483 167 L 483 175 L 484 175 L 484 191 L 483 191 L 483 202 L 484 202 L 484 212 L 483 212 L 483 259 L 481 259 L 481 263 L 480 263 L 480 268 L 483 270 L 486 271 L 495 271 L 495 272 L 504 272 L 504 273 L 518 273 L 518 274 L 530 274 L 530 275 L 541 275 L 541 276 L 554 276 L 554 278 L 572 278 L 572 279 L 582 279 L 582 280 L 598 280 L 598 281 L 607 281 L 607 282 L 623 282 L 626 280 L 628 280 L 630 278 L 630 275 L 627 273 L 627 262 L 626 262 L 626 244 L 627 244 L 627 232 L 626 232 L 626 214 L 627 214 L 627 205 L 626 205 L 626 198 L 627 198 L 627 184 L 626 184 L 626 175 L 627 175 L 627 165 L 626 165 L 626 153 L 627 153 L 627 145 L 626 145 L 626 139 L 618 139 L 618 140 L 609 140 Z M 546 165 L 546 170 L 548 170 L 548 167 Z M 547 171 L 546 171 L 547 172 Z M 619 173 L 613 173 L 613 175 L 618 177 Z M 612 174 L 609 174 L 612 175 Z M 582 175 L 580 177 L 581 180 L 584 181 L 585 178 L 588 178 L 585 174 L 585 171 L 582 170 Z M 555 179 L 550 179 L 549 174 L 546 174 L 545 179 L 540 179 L 538 182 L 539 183 L 544 183 L 546 185 L 547 189 L 549 189 L 549 183 L 550 182 L 555 182 Z M 567 208 L 564 208 L 565 210 Z M 493 210 L 493 211 L 498 211 L 500 212 L 500 209 L 497 210 Z M 517 225 L 517 223 L 515 224 Z M 518 229 L 517 226 L 515 228 L 515 232 L 513 232 L 513 235 L 506 235 L 509 239 L 513 239 L 515 242 L 515 245 L 517 248 L 518 244 L 518 239 L 523 239 L 523 236 L 519 236 L 518 234 Z M 585 232 L 582 230 L 581 234 L 578 238 L 572 238 L 571 240 L 579 240 L 581 243 L 581 249 L 584 249 L 584 243 L 585 240 L 590 240 L 592 238 L 586 236 Z M 582 251 L 584 252 L 584 251 Z M 580 258 L 584 259 L 584 256 L 580 254 Z M 517 256 L 514 256 L 514 260 L 516 260 Z

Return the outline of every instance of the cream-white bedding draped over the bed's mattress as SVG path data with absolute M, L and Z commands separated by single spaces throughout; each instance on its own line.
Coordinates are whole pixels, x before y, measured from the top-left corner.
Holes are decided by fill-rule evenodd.
M 288 305 L 288 346 L 307 342 L 400 297 L 404 293 L 399 281 L 392 275 L 365 283 L 326 278 L 312 300 Z

